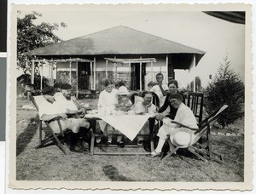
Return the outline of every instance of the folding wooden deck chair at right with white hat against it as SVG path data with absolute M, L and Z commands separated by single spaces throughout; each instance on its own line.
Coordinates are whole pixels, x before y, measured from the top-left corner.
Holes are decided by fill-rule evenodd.
M 182 123 L 177 123 L 180 125 L 180 127 L 183 128 L 189 128 L 194 132 L 195 139 L 193 142 L 190 143 L 187 147 L 180 147 L 176 146 L 175 149 L 172 151 L 169 151 L 166 155 L 166 157 L 170 157 L 173 153 L 175 153 L 179 148 L 186 148 L 188 151 L 193 153 L 196 157 L 199 157 L 201 160 L 207 162 L 207 159 L 205 157 L 209 157 L 212 160 L 217 161 L 218 163 L 224 163 L 223 157 L 220 153 L 217 151 L 212 151 L 212 145 L 211 145 L 211 133 L 210 133 L 210 127 L 212 124 L 220 117 L 221 113 L 225 111 L 228 108 L 227 105 L 222 106 L 221 108 L 218 108 L 217 111 L 214 111 L 209 117 L 204 119 L 201 123 L 199 123 L 199 129 L 197 128 L 189 128 L 188 126 L 183 125 Z M 198 142 L 198 140 L 201 139 L 202 135 L 207 135 L 207 145 L 202 145 Z M 170 138 L 168 139 L 168 143 L 171 143 Z M 195 145 L 198 145 L 200 148 L 195 147 Z M 202 155 L 202 156 L 201 156 Z M 162 156 L 161 159 L 166 158 L 165 156 Z

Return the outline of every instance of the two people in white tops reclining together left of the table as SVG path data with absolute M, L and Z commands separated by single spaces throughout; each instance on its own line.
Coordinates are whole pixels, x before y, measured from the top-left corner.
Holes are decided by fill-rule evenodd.
M 79 137 L 87 134 L 90 128 L 90 123 L 83 117 L 84 106 L 81 106 L 77 100 L 71 98 L 70 92 L 63 88 L 60 92 L 54 87 L 46 87 L 43 89 L 44 99 L 38 105 L 38 115 L 43 121 L 48 121 L 49 126 L 55 134 L 60 133 L 59 124 L 56 117 L 60 117 L 61 128 L 67 130 L 66 136 L 69 141 L 70 151 L 83 152 L 85 147 Z

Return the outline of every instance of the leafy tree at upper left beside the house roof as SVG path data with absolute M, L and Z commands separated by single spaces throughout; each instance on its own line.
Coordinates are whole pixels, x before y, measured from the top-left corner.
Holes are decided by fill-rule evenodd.
M 19 12 L 20 13 L 20 12 Z M 24 53 L 35 48 L 45 47 L 52 43 L 61 42 L 61 38 L 57 37 L 54 31 L 59 30 L 59 27 L 67 27 L 64 22 L 61 24 L 49 24 L 42 22 L 39 25 L 34 24 L 34 21 L 41 17 L 42 14 L 32 12 L 26 14 L 23 18 L 17 18 L 17 61 L 24 72 L 31 70 L 31 64 L 27 61 Z M 32 57 L 29 57 L 32 60 Z

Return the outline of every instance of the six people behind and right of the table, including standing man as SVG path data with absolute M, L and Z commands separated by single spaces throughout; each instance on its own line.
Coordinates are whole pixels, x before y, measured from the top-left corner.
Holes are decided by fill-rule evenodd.
M 166 86 L 163 84 L 163 74 L 161 73 L 158 73 L 156 75 L 156 80 L 158 82 L 157 84 L 154 84 L 154 86 L 150 88 L 150 90 L 144 91 L 141 94 L 143 100 L 137 100 L 137 102 L 132 105 L 131 100 L 129 100 L 129 92 L 127 88 L 125 88 L 125 86 L 121 86 L 119 87 L 119 89 L 116 89 L 113 87 L 112 80 L 106 79 L 103 83 L 105 89 L 100 94 L 98 101 L 99 111 L 104 109 L 108 111 L 113 111 L 119 110 L 119 108 L 121 108 L 123 111 L 133 110 L 135 113 L 138 114 L 140 114 L 141 112 L 151 113 L 154 114 L 154 117 L 156 117 L 157 120 L 163 121 L 163 125 L 161 126 L 159 133 L 157 134 L 160 138 L 159 143 L 155 151 L 152 151 L 152 157 L 160 156 L 162 147 L 171 134 L 180 139 L 180 135 L 177 130 L 175 130 L 175 133 L 172 133 L 174 129 L 178 127 L 177 124 L 171 123 L 172 120 L 178 123 L 183 123 L 190 128 L 198 128 L 193 112 L 188 106 L 185 106 L 185 98 L 183 94 L 181 94 L 177 90 L 177 81 L 171 80 Z M 152 92 L 157 94 L 159 97 L 159 110 L 157 110 L 156 106 L 152 104 Z M 104 122 L 101 121 L 101 123 Z M 101 129 L 105 134 L 108 134 L 108 144 L 111 144 L 111 134 L 115 129 L 108 123 L 104 123 L 103 127 L 101 125 Z M 140 136 L 140 134 L 148 133 L 149 126 L 148 123 L 145 123 L 137 136 L 137 145 L 143 145 L 143 136 Z M 191 131 L 191 133 L 194 132 Z M 121 138 L 121 136 L 118 136 L 117 144 L 123 147 L 125 142 Z M 173 140 L 175 140 L 175 138 L 172 138 L 172 141 Z M 171 150 L 174 149 L 174 145 L 170 144 L 170 146 Z

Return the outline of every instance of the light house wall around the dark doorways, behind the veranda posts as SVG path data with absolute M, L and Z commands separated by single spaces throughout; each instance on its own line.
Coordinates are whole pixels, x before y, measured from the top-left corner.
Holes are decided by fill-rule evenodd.
M 106 60 L 104 58 L 114 58 L 114 56 L 96 56 L 96 89 L 102 90 L 102 79 L 106 78 Z M 86 57 L 85 57 L 86 58 Z M 140 56 L 131 56 L 131 55 L 116 55 L 118 59 L 138 59 Z M 164 75 L 164 83 L 167 83 L 166 78 L 166 54 L 158 55 L 143 55 L 142 58 L 155 58 L 156 62 L 153 63 L 152 73 L 151 73 L 151 63 L 146 64 L 146 75 L 144 88 L 148 88 L 147 85 L 150 81 L 156 82 L 155 75 L 159 72 L 162 72 Z M 76 88 L 77 76 L 76 76 L 76 63 L 72 63 L 72 86 Z M 93 70 L 92 70 L 93 71 Z M 108 78 L 114 79 L 114 64 L 108 61 Z M 69 83 L 69 74 L 70 67 L 69 62 L 62 62 L 57 64 L 57 73 L 56 73 L 56 83 Z M 124 79 L 129 81 L 129 66 L 123 66 L 121 64 L 117 65 L 117 80 Z M 91 76 L 93 80 L 93 73 Z M 93 88 L 93 84 L 90 84 L 90 88 Z

